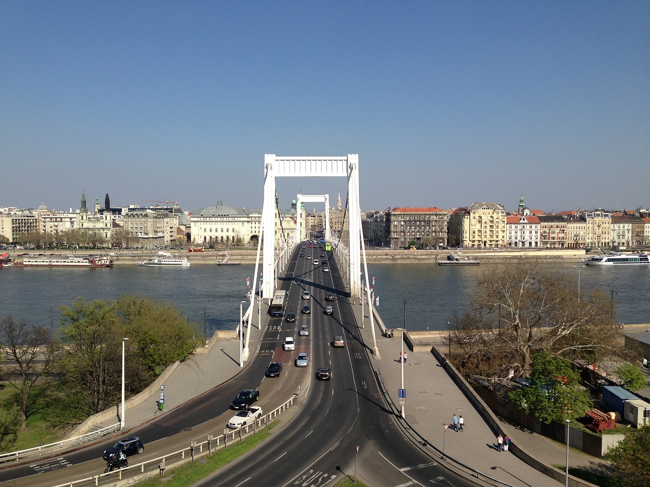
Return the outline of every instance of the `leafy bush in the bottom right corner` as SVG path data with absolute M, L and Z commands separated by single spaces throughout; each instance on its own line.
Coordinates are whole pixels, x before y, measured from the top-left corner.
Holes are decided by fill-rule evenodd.
M 625 440 L 610 449 L 606 458 L 616 465 L 614 475 L 619 485 L 650 487 L 650 427 L 625 435 Z

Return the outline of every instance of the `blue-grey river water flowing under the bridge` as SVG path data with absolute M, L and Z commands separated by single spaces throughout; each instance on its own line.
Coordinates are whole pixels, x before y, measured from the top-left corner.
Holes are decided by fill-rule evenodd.
M 578 280 L 571 264 L 544 264 L 543 268 Z M 473 284 L 496 264 L 481 266 L 435 266 L 423 264 L 378 264 L 369 268 L 378 312 L 388 327 L 409 330 L 446 329 L 448 316 L 459 314 L 467 304 Z M 12 266 L 0 270 L 2 300 L 0 318 L 11 315 L 27 323 L 59 324 L 59 306 L 70 306 L 77 297 L 86 301 L 116 299 L 120 293 L 136 293 L 172 301 L 187 314 L 188 321 L 203 325 L 208 335 L 216 329 L 234 329 L 239 302 L 251 281 L 252 265 L 201 265 L 188 268 L 114 266 L 103 269 L 34 269 Z M 372 282 L 371 282 L 372 283 Z M 580 269 L 580 288 L 589 293 L 601 288 L 616 301 L 614 319 L 623 323 L 650 323 L 650 266 L 588 266 Z M 406 306 L 404 305 L 406 299 Z M 427 311 L 428 308 L 428 311 Z M 205 320 L 205 321 L 204 321 Z

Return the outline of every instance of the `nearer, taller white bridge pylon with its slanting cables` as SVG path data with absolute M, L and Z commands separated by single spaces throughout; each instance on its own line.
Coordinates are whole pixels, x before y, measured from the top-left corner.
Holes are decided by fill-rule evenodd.
M 372 314 L 372 296 L 370 295 L 370 285 L 368 282 L 368 269 L 365 259 L 365 248 L 363 247 L 363 231 L 361 229 L 361 205 L 359 203 L 359 155 L 348 154 L 347 156 L 333 157 L 292 157 L 276 156 L 275 154 L 264 155 L 264 206 L 262 207 L 262 228 L 257 244 L 257 260 L 255 261 L 255 277 L 253 278 L 253 290 L 257 289 L 257 279 L 259 279 L 259 257 L 264 243 L 264 254 L 262 264 L 262 282 L 261 289 L 264 299 L 270 303 L 276 285 L 276 178 L 278 177 L 346 177 L 348 179 L 348 228 L 349 228 L 349 245 L 350 255 L 348 259 L 348 269 L 346 274 L 350 277 L 349 289 L 352 302 L 356 299 L 369 303 L 370 309 L 370 327 L 372 329 L 373 353 L 378 355 L 379 350 L 376 345 L 374 335 L 374 319 Z M 300 198 L 300 196 L 299 196 Z M 305 197 L 303 196 L 302 199 Z M 300 199 L 298 203 L 300 203 Z M 327 203 L 327 200 L 326 200 Z M 298 218 L 300 218 L 300 206 L 297 208 Z M 326 208 L 326 219 L 329 220 L 329 210 Z M 297 222 L 296 222 L 297 223 Z M 326 222 L 328 227 L 329 221 Z M 326 228 L 327 230 L 327 228 Z M 300 231 L 300 225 L 298 225 Z M 328 234 L 326 233 L 326 236 Z M 300 242 L 300 234 L 296 238 L 294 245 Z M 365 286 L 361 284 L 361 251 L 363 250 L 363 267 L 365 268 Z M 288 251 L 288 249 L 285 249 Z M 344 265 L 344 264 L 343 264 Z M 278 271 L 279 272 L 279 271 Z M 367 297 L 361 298 L 362 293 L 367 293 Z M 252 306 L 247 311 L 247 316 L 253 314 L 255 303 L 261 304 L 261 299 L 255 299 L 255 293 L 251 294 Z M 259 305 L 258 304 L 258 305 Z M 261 310 L 258 310 L 261 312 Z M 361 318 L 363 326 L 363 316 Z M 248 340 L 249 333 L 246 334 L 246 345 L 244 347 L 244 359 L 248 358 Z

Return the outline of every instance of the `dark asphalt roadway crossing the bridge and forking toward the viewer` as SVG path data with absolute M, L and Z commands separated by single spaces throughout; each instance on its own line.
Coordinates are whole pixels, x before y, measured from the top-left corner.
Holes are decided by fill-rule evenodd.
M 315 249 L 309 250 L 313 257 Z M 275 408 L 292 393 L 302 392 L 302 399 L 298 406 L 280 417 L 281 423 L 271 440 L 222 468 L 200 485 L 331 485 L 343 475 L 354 475 L 355 469 L 359 479 L 372 486 L 476 485 L 437 464 L 417 442 L 399 431 L 379 390 L 369 346 L 363 343 L 357 328 L 357 310 L 349 304 L 336 263 L 333 260 L 328 262 L 330 272 L 326 273 L 322 271 L 324 264 L 314 266 L 311 258 L 300 258 L 299 251 L 292 258 L 287 277 L 281 280 L 280 286 L 288 291 L 287 312 L 296 313 L 296 322 L 287 323 L 279 317 L 265 316 L 259 348 L 243 371 L 237 375 L 233 373 L 235 377 L 218 387 L 206 387 L 209 390 L 203 395 L 153 420 L 140 415 L 138 419 L 144 424 L 132 429 L 129 436 L 140 436 L 146 451 L 143 455 L 131 457 L 131 463 L 170 453 L 180 445 L 205 438 L 207 434 L 220 434 L 227 419 L 233 415 L 228 409 L 231 399 L 243 388 L 259 388 L 261 398 L 257 405 L 263 410 Z M 317 252 L 320 260 L 322 250 Z M 309 252 L 305 251 L 305 255 Z M 300 299 L 303 290 L 312 293 L 308 301 Z M 336 295 L 335 301 L 329 303 L 334 306 L 333 316 L 322 312 L 328 304 L 324 301 L 327 292 Z M 300 314 L 305 303 L 312 306 L 311 314 Z M 298 336 L 302 324 L 309 326 L 307 337 Z M 343 349 L 331 347 L 331 338 L 336 334 L 343 334 L 346 339 Z M 285 336 L 296 338 L 295 351 L 283 351 L 281 343 Z M 302 351 L 309 353 L 310 366 L 298 369 L 293 366 L 293 360 Z M 216 354 L 213 358 L 225 368 L 232 367 L 233 357 L 228 353 Z M 264 377 L 266 366 L 272 360 L 283 363 L 283 374 L 279 379 Z M 333 379 L 317 381 L 315 372 L 318 366 L 331 367 Z M 200 382 L 207 381 L 209 378 L 203 377 Z M 131 412 L 127 411 L 127 418 L 129 414 Z M 101 460 L 101 453 L 114 442 L 115 439 L 99 442 L 54 459 L 3 469 L 0 481 L 3 487 L 49 487 L 92 477 L 103 471 L 105 462 Z M 355 455 L 357 445 L 360 446 L 358 462 Z M 532 471 L 532 477 L 536 477 L 534 474 L 541 475 Z M 543 479 L 544 483 L 532 481 L 530 477 L 527 482 L 510 483 L 553 483 L 547 477 Z M 512 477 L 509 480 L 512 481 Z

